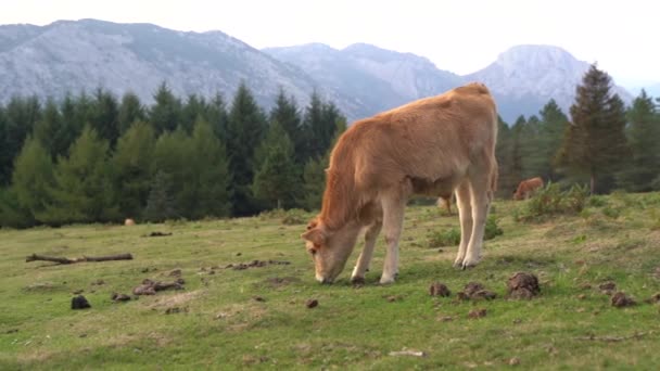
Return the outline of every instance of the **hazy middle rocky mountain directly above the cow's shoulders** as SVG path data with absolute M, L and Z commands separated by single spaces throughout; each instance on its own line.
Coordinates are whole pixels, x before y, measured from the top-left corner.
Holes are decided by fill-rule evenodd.
M 437 69 L 426 57 L 366 43 L 355 43 L 343 50 L 310 43 L 264 51 L 301 67 L 320 86 L 352 97 L 357 117 L 437 94 L 462 81 L 458 75 Z

